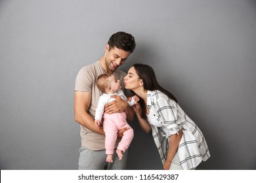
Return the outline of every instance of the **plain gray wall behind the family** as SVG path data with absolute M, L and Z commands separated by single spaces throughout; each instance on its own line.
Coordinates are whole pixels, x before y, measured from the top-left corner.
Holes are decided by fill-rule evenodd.
M 77 169 L 75 76 L 112 33 L 135 36 L 133 63 L 154 67 L 202 129 L 198 169 L 256 168 L 256 2 L 0 1 L 0 169 Z M 133 122 L 127 169 L 161 169 Z

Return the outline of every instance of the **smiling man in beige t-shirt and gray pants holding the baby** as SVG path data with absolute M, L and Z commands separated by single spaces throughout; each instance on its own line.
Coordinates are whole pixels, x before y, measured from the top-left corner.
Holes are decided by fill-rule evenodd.
M 126 73 L 117 69 L 123 65 L 129 55 L 135 49 L 134 37 L 125 32 L 117 32 L 112 35 L 106 44 L 105 54 L 96 63 L 83 67 L 75 80 L 75 121 L 81 126 L 81 148 L 79 150 L 79 169 L 100 170 L 100 169 L 125 169 L 127 152 L 123 154 L 121 160 L 114 154 L 113 163 L 106 162 L 106 150 L 104 146 L 104 131 L 102 127 L 95 128 L 95 108 L 98 98 L 102 92 L 96 86 L 96 79 L 103 73 L 110 73 L 120 80 L 122 90 L 123 78 Z M 105 106 L 105 112 L 112 114 L 115 112 L 125 112 L 127 120 L 134 118 L 134 111 L 129 104 L 121 97 L 116 96 L 116 100 Z M 127 130 L 119 131 L 119 137 Z M 117 141 L 118 143 L 118 141 Z

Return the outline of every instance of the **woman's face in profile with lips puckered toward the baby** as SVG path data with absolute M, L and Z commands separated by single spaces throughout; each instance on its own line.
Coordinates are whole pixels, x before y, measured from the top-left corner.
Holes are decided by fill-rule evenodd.
M 127 90 L 135 90 L 141 86 L 142 80 L 139 78 L 135 71 L 135 67 L 131 67 L 128 71 L 128 74 L 125 76 L 125 88 Z

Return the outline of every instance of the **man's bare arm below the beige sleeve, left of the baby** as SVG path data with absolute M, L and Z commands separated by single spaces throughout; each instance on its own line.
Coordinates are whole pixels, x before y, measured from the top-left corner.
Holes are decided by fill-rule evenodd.
M 105 135 L 102 127 L 98 129 L 95 128 L 95 119 L 93 119 L 87 112 L 89 106 L 91 105 L 91 92 L 78 92 L 75 91 L 75 122 L 91 129 L 102 135 Z

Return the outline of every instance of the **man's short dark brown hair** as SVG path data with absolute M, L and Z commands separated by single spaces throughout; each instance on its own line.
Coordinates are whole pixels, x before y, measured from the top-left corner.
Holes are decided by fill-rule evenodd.
M 136 46 L 134 37 L 131 34 L 122 31 L 114 33 L 114 35 L 110 37 L 108 44 L 110 45 L 110 49 L 116 46 L 118 49 L 131 53 L 135 50 Z

